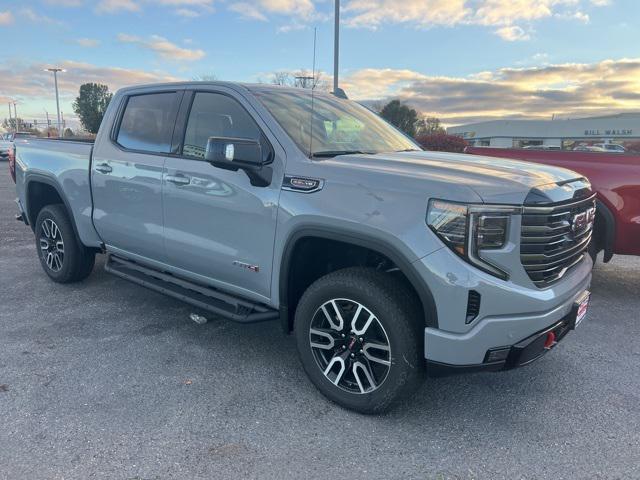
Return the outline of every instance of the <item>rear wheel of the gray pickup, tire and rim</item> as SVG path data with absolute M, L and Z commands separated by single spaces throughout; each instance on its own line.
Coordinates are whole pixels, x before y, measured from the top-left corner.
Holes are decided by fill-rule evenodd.
M 62 205 L 40 210 L 35 234 L 40 264 L 54 282 L 77 282 L 89 276 L 95 253 L 79 242 Z

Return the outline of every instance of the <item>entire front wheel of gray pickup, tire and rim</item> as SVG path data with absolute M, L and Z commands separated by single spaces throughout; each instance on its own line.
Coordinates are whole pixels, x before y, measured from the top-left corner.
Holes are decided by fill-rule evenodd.
M 373 269 L 330 273 L 304 293 L 295 317 L 302 365 L 343 407 L 380 413 L 408 397 L 424 368 L 417 302 Z

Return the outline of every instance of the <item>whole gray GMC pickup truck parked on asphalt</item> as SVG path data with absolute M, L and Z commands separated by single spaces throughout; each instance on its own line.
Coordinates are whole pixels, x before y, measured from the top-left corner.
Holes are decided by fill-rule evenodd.
M 269 85 L 120 90 L 93 144 L 16 147 L 18 219 L 56 282 L 107 271 L 278 320 L 338 404 L 427 370 L 521 366 L 584 318 L 594 194 L 560 168 L 425 152 L 355 102 Z

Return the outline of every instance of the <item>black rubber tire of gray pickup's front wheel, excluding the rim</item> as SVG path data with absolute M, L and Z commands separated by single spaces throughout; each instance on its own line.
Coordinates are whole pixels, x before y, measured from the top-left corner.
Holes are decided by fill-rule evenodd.
M 422 371 L 422 359 L 416 330 L 411 327 L 406 311 L 397 301 L 389 301 L 382 288 L 367 284 L 367 288 L 335 281 L 322 285 L 320 279 L 303 295 L 295 316 L 295 336 L 303 367 L 320 391 L 340 405 L 361 411 L 376 413 L 386 410 L 400 392 L 416 383 Z M 367 394 L 349 393 L 334 385 L 325 377 L 311 350 L 309 328 L 313 315 L 328 300 L 344 298 L 367 307 L 383 326 L 391 348 L 391 368 L 387 377 L 375 391 Z

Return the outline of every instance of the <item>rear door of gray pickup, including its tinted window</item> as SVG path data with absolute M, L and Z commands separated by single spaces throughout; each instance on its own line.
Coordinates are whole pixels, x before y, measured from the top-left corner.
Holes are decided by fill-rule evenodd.
M 182 91 L 131 94 L 93 153 L 94 225 L 114 252 L 164 261 L 162 171 Z

